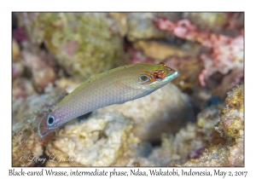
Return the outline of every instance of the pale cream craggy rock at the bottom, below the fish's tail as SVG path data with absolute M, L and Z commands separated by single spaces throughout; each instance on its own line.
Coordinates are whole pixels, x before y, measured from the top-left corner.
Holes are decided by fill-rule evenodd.
M 79 124 L 65 125 L 55 140 L 49 141 L 46 153 L 55 156 L 55 160 L 61 160 L 61 156 L 75 159 L 63 165 L 110 166 L 131 143 L 138 142 L 131 128 L 131 121 L 119 113 L 92 116 Z M 54 163 L 49 160 L 46 165 Z

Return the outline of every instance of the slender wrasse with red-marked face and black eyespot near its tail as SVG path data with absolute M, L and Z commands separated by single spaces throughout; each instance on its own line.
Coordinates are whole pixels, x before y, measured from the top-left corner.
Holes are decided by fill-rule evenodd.
M 102 72 L 80 84 L 38 122 L 40 138 L 67 121 L 101 107 L 133 101 L 177 78 L 178 71 L 166 64 L 136 63 Z

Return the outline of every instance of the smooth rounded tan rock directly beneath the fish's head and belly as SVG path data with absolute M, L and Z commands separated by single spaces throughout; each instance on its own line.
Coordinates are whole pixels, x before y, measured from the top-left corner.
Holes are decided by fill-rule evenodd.
M 158 141 L 161 133 L 175 132 L 185 121 L 194 118 L 187 96 L 174 84 L 166 84 L 154 93 L 135 101 L 102 107 L 95 113 L 103 115 L 115 111 L 134 121 L 133 131 L 143 141 Z

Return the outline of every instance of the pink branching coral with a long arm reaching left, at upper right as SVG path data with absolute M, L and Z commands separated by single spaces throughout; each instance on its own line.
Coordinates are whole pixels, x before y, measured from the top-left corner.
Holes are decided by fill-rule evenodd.
M 215 72 L 225 75 L 230 70 L 235 70 L 237 75 L 232 78 L 235 82 L 243 77 L 243 30 L 237 37 L 232 38 L 212 32 L 201 32 L 189 20 L 178 20 L 174 23 L 170 20 L 158 19 L 156 26 L 172 32 L 178 38 L 201 43 L 203 47 L 209 49 L 208 54 L 200 55 L 205 67 L 199 75 L 202 86 L 206 86 L 207 78 Z

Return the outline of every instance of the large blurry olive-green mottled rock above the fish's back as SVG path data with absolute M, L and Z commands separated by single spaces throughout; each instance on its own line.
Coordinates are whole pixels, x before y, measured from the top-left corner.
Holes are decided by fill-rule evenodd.
M 33 43 L 45 43 L 58 64 L 81 80 L 105 72 L 122 55 L 122 40 L 106 13 L 18 13 Z

